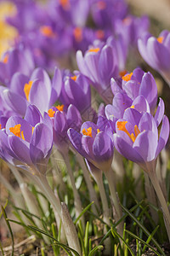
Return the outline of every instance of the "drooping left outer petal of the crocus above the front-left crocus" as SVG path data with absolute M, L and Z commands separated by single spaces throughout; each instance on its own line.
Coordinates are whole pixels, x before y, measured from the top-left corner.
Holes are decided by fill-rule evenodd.
M 29 103 L 24 97 L 7 89 L 3 90 L 3 99 L 15 113 L 19 113 L 21 116 L 25 115 Z

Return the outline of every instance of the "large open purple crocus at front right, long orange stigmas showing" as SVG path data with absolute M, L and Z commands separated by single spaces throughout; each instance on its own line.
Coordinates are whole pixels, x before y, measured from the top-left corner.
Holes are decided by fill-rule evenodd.
M 158 135 L 160 117 L 162 125 Z M 145 172 L 152 172 L 156 167 L 156 158 L 165 147 L 168 137 L 169 121 L 167 116 L 162 118 L 160 109 L 154 118 L 150 113 L 139 113 L 136 109 L 128 108 L 123 119 L 116 121 L 114 144 L 117 151 L 128 160 L 138 163 Z

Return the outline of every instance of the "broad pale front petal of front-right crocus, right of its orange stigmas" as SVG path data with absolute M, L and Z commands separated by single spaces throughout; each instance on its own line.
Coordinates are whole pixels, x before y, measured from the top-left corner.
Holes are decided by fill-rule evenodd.
M 143 131 L 133 143 L 133 149 L 143 158 L 144 162 L 155 159 L 157 148 L 157 136 L 153 131 Z

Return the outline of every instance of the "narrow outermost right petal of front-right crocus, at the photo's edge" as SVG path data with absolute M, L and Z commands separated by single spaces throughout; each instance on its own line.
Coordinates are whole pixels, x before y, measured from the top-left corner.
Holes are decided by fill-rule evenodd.
M 156 149 L 156 157 L 158 154 L 160 154 L 161 150 L 165 147 L 168 137 L 169 137 L 169 120 L 165 115 L 162 120 L 159 142 Z

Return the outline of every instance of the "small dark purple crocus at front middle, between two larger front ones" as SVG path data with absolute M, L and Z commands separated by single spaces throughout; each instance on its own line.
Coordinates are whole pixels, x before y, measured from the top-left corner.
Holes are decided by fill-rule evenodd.
M 88 121 L 82 124 L 80 133 L 69 129 L 68 136 L 72 146 L 91 164 L 104 172 L 110 169 L 114 146 L 108 125 L 101 120 L 99 125 Z

